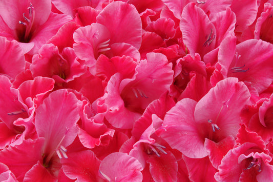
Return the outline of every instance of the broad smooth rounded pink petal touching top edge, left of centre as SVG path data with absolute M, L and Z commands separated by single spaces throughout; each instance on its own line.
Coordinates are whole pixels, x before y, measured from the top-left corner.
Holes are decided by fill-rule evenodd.
M 113 2 L 103 8 L 97 23 L 108 28 L 110 43 L 127 43 L 139 49 L 141 45 L 141 18 L 133 5 Z

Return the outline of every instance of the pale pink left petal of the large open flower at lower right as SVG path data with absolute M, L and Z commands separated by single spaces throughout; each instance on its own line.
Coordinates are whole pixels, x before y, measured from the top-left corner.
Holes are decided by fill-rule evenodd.
M 194 120 L 196 101 L 190 98 L 180 100 L 166 113 L 163 127 L 166 132 L 161 137 L 173 148 L 192 158 L 207 156 L 204 138 L 199 135 Z

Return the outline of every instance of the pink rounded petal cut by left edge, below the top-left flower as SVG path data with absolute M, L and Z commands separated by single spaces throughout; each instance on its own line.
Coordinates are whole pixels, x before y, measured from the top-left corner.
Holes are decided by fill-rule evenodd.
M 0 74 L 15 78 L 25 70 L 24 53 L 16 41 L 10 42 L 5 37 L 0 37 L 0 47 Z

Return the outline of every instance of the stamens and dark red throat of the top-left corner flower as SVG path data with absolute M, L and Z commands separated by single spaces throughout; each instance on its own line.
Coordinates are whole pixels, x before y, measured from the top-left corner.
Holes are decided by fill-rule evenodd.
M 25 34 L 22 36 L 19 36 L 19 41 L 23 43 L 28 43 L 31 39 L 31 29 L 33 27 L 34 23 L 34 17 L 35 17 L 35 11 L 34 7 L 30 3 L 30 6 L 28 7 L 29 10 L 29 18 L 25 16 L 25 13 L 23 13 L 24 21 L 19 21 L 19 24 L 25 26 Z

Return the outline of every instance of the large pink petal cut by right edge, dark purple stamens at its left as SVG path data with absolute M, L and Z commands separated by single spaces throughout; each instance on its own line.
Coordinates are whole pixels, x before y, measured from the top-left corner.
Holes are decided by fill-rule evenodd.
M 250 82 L 259 93 L 266 90 L 273 81 L 273 45 L 262 40 L 249 39 L 236 46 L 227 76 L 239 81 Z

